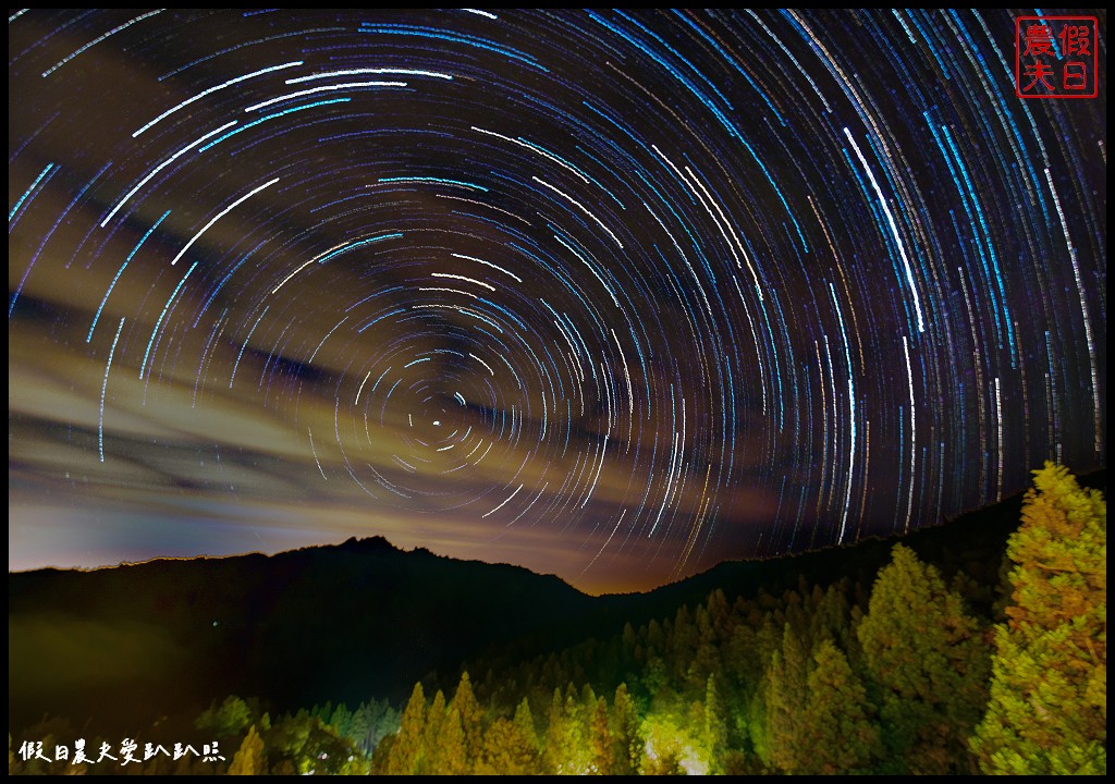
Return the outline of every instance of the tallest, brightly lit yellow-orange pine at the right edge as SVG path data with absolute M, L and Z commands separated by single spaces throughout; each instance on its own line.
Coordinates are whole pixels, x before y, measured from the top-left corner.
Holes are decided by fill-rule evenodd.
M 1012 604 L 971 746 L 989 774 L 1105 774 L 1107 503 L 1063 466 L 1034 474 L 1007 544 Z

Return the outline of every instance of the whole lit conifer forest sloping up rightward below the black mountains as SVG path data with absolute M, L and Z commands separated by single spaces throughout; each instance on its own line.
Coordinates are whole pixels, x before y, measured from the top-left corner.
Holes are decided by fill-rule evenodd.
M 1106 772 L 1106 502 L 1047 464 L 1004 567 L 891 546 L 873 574 L 750 596 L 518 660 L 500 649 L 405 705 L 271 715 L 231 696 L 137 727 L 144 773 L 973 774 Z M 987 560 L 987 559 L 986 559 Z M 983 568 L 981 568 L 983 567 Z M 173 729 L 172 729 L 173 728 Z M 120 739 L 48 719 L 12 773 L 104 772 Z M 175 759 L 145 742 L 178 733 Z M 74 741 L 89 733 L 75 765 Z M 28 746 L 27 744 L 31 745 Z M 35 746 L 41 743 L 41 747 Z M 55 759 L 59 745 L 67 758 Z M 148 752 L 151 752 L 148 756 Z M 38 753 L 38 756 L 36 755 Z M 145 759 L 145 756 L 148 758 Z M 134 764 L 134 767 L 133 767 Z

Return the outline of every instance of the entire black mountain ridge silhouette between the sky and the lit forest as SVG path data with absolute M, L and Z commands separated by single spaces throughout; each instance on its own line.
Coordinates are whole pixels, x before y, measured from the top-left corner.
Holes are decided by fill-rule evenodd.
M 1080 477 L 1106 487 L 1106 471 Z M 716 589 L 728 600 L 802 580 L 866 581 L 909 544 L 947 579 L 993 579 L 1022 494 L 904 536 L 726 561 L 652 591 L 591 597 L 524 567 L 400 550 L 382 536 L 273 555 L 153 559 L 9 572 L 9 726 L 43 715 L 127 728 L 235 694 L 275 709 L 370 697 L 467 661 L 559 651 L 671 617 Z M 983 614 L 986 607 L 975 608 Z M 474 677 L 482 674 L 474 674 Z

